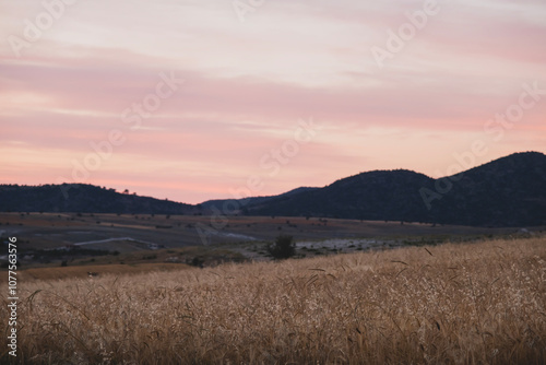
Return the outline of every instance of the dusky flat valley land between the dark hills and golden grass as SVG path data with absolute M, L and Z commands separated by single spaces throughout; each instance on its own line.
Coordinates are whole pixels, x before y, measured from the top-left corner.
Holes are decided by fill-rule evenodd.
M 269 260 L 265 246 L 280 234 L 294 236 L 299 257 L 313 257 L 514 237 L 522 235 L 521 228 L 321 217 L 0 213 L 0 240 L 17 238 L 22 269 L 59 267 L 63 262 L 66 266 L 188 263 L 197 258 L 207 266 L 230 259 L 240 261 L 241 257 Z M 529 229 L 529 235 L 541 234 L 545 227 Z M 166 255 L 166 250 L 173 255 Z M 139 259 L 139 255 L 146 259 Z M 0 254 L 0 262 L 5 264 L 5 252 Z

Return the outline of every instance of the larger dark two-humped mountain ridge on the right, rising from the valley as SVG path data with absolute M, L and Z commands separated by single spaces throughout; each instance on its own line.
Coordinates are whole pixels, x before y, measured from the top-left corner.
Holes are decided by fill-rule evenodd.
M 454 176 L 375 170 L 246 207 L 251 215 L 546 225 L 546 155 L 515 153 Z

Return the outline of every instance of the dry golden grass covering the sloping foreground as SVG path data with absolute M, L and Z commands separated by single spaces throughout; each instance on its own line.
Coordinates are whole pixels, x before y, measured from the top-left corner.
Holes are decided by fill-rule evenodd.
M 20 285 L 24 364 L 546 361 L 544 238 Z

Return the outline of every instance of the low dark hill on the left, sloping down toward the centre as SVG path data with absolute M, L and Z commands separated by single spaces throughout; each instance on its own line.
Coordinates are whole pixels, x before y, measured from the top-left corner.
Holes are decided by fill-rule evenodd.
M 190 214 L 194 205 L 116 192 L 85 184 L 0 185 L 0 211 Z

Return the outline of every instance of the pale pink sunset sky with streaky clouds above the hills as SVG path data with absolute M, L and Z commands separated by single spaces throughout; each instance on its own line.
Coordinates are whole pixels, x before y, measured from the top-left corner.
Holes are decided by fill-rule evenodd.
M 266 196 L 546 152 L 544 0 L 0 0 L 0 184 Z

